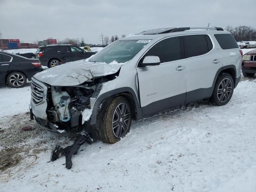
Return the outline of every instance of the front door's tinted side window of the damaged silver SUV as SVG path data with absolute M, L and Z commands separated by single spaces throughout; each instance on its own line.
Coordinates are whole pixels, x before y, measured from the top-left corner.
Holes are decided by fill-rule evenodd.
M 180 38 L 171 37 L 158 42 L 144 55 L 144 57 L 145 56 L 158 56 L 161 63 L 182 59 Z

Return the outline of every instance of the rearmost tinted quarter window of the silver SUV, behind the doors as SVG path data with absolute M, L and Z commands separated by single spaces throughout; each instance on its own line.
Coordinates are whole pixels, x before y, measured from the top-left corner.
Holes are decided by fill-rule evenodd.
M 222 49 L 239 48 L 236 40 L 231 34 L 215 34 L 214 37 L 216 38 Z

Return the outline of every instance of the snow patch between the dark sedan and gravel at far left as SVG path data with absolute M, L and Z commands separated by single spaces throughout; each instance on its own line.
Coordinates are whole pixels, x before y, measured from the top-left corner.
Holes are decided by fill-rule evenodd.
M 0 118 L 29 111 L 30 85 L 23 88 L 0 87 Z

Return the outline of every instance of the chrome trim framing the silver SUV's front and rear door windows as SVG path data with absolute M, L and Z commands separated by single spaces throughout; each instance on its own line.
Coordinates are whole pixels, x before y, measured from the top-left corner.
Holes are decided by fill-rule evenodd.
M 140 57 L 140 59 L 137 61 L 136 69 L 144 68 L 144 67 L 138 67 L 139 61 L 141 60 L 141 58 L 142 58 L 155 44 L 159 43 L 159 42 L 162 41 L 162 40 L 168 39 L 168 38 L 180 37 L 180 36 L 188 36 L 188 35 L 208 35 L 209 38 L 210 38 L 210 40 L 211 40 L 211 42 L 212 42 L 212 49 L 211 49 L 209 52 L 207 52 L 206 54 L 208 54 L 208 53 L 212 52 L 212 50 L 214 50 L 214 48 L 215 48 L 214 41 L 213 41 L 212 37 L 211 37 L 209 34 L 207 34 L 207 33 L 183 34 L 183 35 L 170 36 L 170 37 L 166 37 L 166 38 L 160 39 L 160 40 L 158 40 L 157 42 L 155 42 L 152 46 L 150 46 L 150 48 L 148 48 L 148 50 L 146 50 L 146 52 L 145 52 L 145 53 Z M 184 50 L 184 51 L 185 51 L 185 50 Z M 172 62 L 176 62 L 176 61 L 187 60 L 187 59 L 196 58 L 196 57 L 201 57 L 201 56 L 204 56 L 204 55 L 206 55 L 206 54 L 198 55 L 198 56 L 194 56 L 194 57 L 189 57 L 189 58 L 184 58 L 184 59 L 179 59 L 179 60 L 174 60 L 174 61 L 169 61 L 169 62 L 164 62 L 164 63 L 160 63 L 160 65 L 161 65 L 161 64 L 166 64 L 166 63 L 172 63 Z M 145 66 L 145 67 L 152 67 L 152 66 Z

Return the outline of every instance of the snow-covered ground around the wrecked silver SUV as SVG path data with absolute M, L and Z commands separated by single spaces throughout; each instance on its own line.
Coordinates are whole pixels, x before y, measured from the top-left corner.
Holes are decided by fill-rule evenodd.
M 29 89 L 1 88 L 1 116 L 28 111 Z M 0 173 L 0 191 L 255 192 L 255 95 L 254 79 L 244 80 L 226 106 L 197 102 L 134 122 L 116 144 L 82 145 L 71 170 L 64 157 L 47 163 L 55 133 L 27 138 L 24 146 L 46 150 Z

